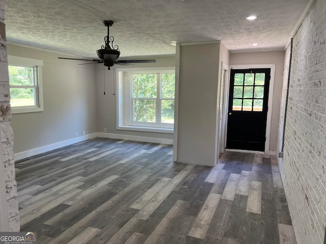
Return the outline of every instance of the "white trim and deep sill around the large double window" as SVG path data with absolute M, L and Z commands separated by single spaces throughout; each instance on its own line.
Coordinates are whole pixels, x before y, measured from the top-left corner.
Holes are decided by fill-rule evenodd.
M 116 69 L 115 81 L 116 95 L 117 95 L 117 130 L 130 130 L 130 131 L 146 131 L 146 132 L 157 132 L 157 133 L 171 133 L 174 132 L 173 124 L 149 124 L 131 122 L 131 113 L 125 113 L 125 110 L 131 111 L 131 80 L 128 78 L 129 82 L 123 76 L 124 73 L 162 73 L 164 71 L 175 72 L 175 67 L 157 67 L 157 68 L 130 68 L 130 69 Z M 125 86 L 125 87 L 124 87 Z M 126 87 L 128 86 L 128 87 Z M 158 98 L 157 101 L 160 101 Z

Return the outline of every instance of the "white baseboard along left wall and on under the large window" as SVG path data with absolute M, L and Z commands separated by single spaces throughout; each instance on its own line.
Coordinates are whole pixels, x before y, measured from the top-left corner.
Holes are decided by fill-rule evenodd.
M 120 134 L 112 134 L 112 133 L 93 133 L 86 136 L 80 136 L 76 138 L 72 138 L 66 141 L 61 141 L 57 143 L 53 143 L 46 146 L 41 146 L 38 148 L 34 148 L 28 151 L 22 151 L 21 153 L 15 154 L 15 161 L 32 157 L 34 155 L 43 154 L 47 151 L 58 149 L 63 146 L 68 146 L 74 143 L 78 143 L 81 141 L 86 141 L 95 137 L 103 137 L 103 138 L 111 138 L 111 139 L 121 139 L 121 140 L 130 140 L 130 141 L 143 141 L 143 142 L 151 142 L 151 143 L 161 143 L 161 144 L 169 144 L 173 145 L 173 139 L 162 139 L 162 138 L 154 138 L 154 137 L 145 137 L 145 136 L 130 136 L 130 135 L 120 135 Z

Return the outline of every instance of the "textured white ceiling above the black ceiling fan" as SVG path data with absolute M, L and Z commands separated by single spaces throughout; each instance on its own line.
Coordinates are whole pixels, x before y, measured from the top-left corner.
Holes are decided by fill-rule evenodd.
M 2 1 L 2 0 L 0 0 Z M 5 0 L 9 43 L 97 58 L 103 20 L 121 57 L 171 55 L 221 40 L 231 51 L 282 49 L 309 0 Z M 254 21 L 246 19 L 256 14 Z M 259 45 L 254 47 L 253 43 Z

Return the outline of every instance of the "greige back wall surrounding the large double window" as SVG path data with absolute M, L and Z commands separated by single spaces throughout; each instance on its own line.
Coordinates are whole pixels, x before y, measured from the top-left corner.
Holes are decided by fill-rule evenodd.
M 134 64 L 130 66 L 115 65 L 111 70 L 107 70 L 102 64 L 96 65 L 96 103 L 97 103 L 97 132 L 106 133 L 108 137 L 112 134 L 116 136 L 128 137 L 147 137 L 159 139 L 173 139 L 171 133 L 155 133 L 142 131 L 117 130 L 117 106 L 116 106 L 116 82 L 115 69 L 130 68 L 156 68 L 156 67 L 175 67 L 175 56 L 150 57 L 156 63 Z M 105 87 L 105 95 L 104 95 Z

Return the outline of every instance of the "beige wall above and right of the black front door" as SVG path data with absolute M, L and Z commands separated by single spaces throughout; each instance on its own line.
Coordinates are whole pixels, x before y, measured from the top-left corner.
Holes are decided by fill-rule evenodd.
M 275 65 L 275 80 L 273 94 L 273 108 L 271 111 L 269 151 L 277 151 L 278 128 L 280 116 L 280 100 L 282 93 L 283 68 L 285 51 L 231 53 L 230 66 L 232 65 Z

